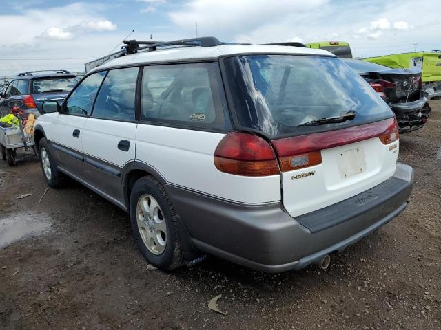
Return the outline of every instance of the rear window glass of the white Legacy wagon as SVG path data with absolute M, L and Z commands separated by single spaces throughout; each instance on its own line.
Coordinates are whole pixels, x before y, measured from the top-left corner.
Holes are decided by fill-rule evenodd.
M 270 138 L 341 129 L 393 117 L 366 81 L 340 58 L 248 55 L 225 59 L 238 125 Z M 352 120 L 299 126 L 356 111 Z

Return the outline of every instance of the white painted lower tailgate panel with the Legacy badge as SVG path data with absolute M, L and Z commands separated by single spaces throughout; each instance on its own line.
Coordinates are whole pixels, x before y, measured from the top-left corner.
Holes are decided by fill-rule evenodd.
M 389 147 L 396 144 L 396 148 Z M 378 137 L 322 150 L 322 164 L 282 174 L 283 206 L 292 217 L 320 210 L 358 195 L 393 176 L 398 159 L 398 144 L 384 145 Z M 339 157 L 359 148 L 364 153 L 365 168 L 361 173 L 344 177 Z M 314 175 L 293 179 L 296 175 Z

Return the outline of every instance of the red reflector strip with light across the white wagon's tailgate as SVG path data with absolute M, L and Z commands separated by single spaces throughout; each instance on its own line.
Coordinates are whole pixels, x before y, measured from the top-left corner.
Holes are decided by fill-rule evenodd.
M 338 129 L 336 131 L 286 137 L 273 140 L 271 143 L 280 160 L 281 169 L 293 170 L 313 166 L 322 162 L 320 150 L 344 146 L 379 137 L 383 144 L 390 144 L 398 140 L 398 125 L 396 118 L 373 122 L 360 126 Z M 307 157 L 304 163 L 297 157 Z

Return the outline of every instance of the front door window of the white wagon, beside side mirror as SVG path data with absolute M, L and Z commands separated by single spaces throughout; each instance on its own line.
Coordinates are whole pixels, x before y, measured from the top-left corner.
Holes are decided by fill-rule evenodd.
M 66 101 L 65 113 L 70 115 L 90 115 L 96 93 L 106 72 L 96 72 L 85 78 L 70 94 Z

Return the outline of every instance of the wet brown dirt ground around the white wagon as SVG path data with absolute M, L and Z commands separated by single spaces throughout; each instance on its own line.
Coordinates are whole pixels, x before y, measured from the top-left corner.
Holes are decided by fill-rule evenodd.
M 400 140 L 416 170 L 409 207 L 325 272 L 269 275 L 214 257 L 148 270 L 119 208 L 75 183 L 39 203 L 36 157 L 0 162 L 0 329 L 441 329 L 441 102 L 431 105 Z M 218 294 L 227 315 L 207 308 Z

